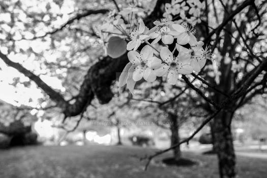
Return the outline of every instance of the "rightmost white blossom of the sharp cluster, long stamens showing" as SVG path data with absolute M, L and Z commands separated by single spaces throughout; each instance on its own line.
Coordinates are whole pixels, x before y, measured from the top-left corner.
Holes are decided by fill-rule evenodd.
M 197 73 L 200 72 L 201 68 L 203 68 L 206 63 L 206 58 L 203 55 L 204 50 L 202 45 L 203 42 L 200 41 L 194 46 L 191 46 L 191 49 L 187 49 L 179 44 L 176 44 L 176 49 L 179 51 L 178 56 L 186 60 L 190 60 L 190 65 Z

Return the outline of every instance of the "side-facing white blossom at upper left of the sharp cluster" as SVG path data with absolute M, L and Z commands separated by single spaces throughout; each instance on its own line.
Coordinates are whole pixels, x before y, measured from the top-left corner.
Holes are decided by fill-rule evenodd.
M 139 28 L 134 28 L 130 34 L 131 41 L 127 44 L 127 50 L 136 50 L 143 40 L 148 38 L 148 35 L 144 35 L 145 25 L 142 19 L 139 20 Z

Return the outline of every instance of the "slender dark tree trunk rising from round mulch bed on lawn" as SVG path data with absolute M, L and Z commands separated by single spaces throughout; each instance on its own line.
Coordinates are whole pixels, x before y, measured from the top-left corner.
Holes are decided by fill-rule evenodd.
M 179 123 L 177 120 L 177 116 L 175 114 L 169 113 L 169 120 L 170 120 L 170 131 L 171 131 L 171 146 L 180 142 L 179 137 Z M 181 158 L 181 150 L 180 146 L 176 146 L 173 149 L 173 156 L 175 160 L 179 160 Z

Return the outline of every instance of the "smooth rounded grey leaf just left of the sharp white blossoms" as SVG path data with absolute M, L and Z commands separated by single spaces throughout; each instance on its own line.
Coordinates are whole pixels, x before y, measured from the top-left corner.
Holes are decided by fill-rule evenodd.
M 117 58 L 126 52 L 127 43 L 124 39 L 113 36 L 110 37 L 107 44 L 107 54 L 112 58 Z

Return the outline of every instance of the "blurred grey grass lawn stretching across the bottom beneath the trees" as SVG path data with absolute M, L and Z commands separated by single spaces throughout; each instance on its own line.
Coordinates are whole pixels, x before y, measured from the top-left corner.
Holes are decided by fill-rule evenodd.
M 109 178 L 109 177 L 218 177 L 217 158 L 184 152 L 185 158 L 198 162 L 191 167 L 165 166 L 162 155 L 147 171 L 139 158 L 155 150 L 127 146 L 27 146 L 0 151 L 1 178 Z M 267 159 L 238 156 L 241 178 L 263 178 Z

